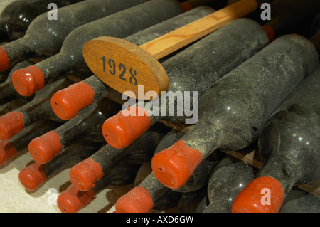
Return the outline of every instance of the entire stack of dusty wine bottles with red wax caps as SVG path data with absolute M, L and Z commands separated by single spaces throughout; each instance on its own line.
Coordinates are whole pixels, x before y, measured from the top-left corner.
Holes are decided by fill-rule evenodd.
M 56 20 L 50 2 L 0 14 L 0 164 L 28 157 L 14 180 L 26 194 L 57 189 L 67 213 L 90 211 L 105 189 L 124 190 L 100 208 L 117 213 L 320 212 L 319 1 L 61 0 Z M 243 15 L 151 55 L 229 9 Z M 141 63 L 183 102 L 123 93 L 150 85 Z

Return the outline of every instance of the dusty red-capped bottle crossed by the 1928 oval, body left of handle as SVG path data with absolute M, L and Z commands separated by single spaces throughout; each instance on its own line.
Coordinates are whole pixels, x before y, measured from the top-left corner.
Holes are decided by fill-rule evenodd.
M 124 38 L 124 40 L 130 41 L 136 45 L 141 45 L 162 36 L 165 33 L 174 31 L 176 28 L 191 23 L 196 19 L 200 19 L 213 11 L 214 10 L 209 7 L 200 6 L 186 13 L 174 16 L 172 19 L 157 23 L 143 31 L 134 33 L 133 35 Z M 126 80 L 125 78 L 123 79 Z M 70 119 L 75 117 L 82 108 L 90 105 L 93 100 L 100 100 L 103 97 L 107 97 L 109 89 L 110 88 L 99 78 L 92 75 L 89 78 L 82 80 L 80 83 L 75 83 L 68 88 L 58 91 L 58 93 L 55 93 L 51 99 L 51 106 L 58 117 L 61 119 Z M 70 102 L 76 102 L 78 105 L 70 107 Z

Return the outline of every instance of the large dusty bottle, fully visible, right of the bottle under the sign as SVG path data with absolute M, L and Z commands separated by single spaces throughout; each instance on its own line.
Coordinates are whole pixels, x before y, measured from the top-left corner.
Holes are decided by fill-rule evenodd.
M 215 149 L 239 150 L 252 144 L 277 105 L 317 64 L 309 40 L 286 35 L 220 78 L 199 99 L 195 127 L 152 158 L 156 178 L 179 188 Z

